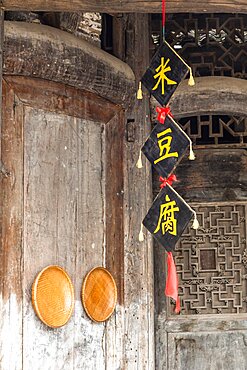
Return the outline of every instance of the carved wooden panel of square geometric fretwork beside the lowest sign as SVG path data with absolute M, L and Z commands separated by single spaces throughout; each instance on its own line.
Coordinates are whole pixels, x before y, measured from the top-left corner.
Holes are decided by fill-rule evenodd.
M 200 227 L 188 227 L 175 251 L 181 314 L 245 313 L 247 203 L 194 209 Z

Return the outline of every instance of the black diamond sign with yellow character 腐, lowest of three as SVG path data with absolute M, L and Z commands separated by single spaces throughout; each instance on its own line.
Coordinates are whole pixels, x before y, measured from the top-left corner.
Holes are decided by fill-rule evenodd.
M 170 252 L 193 215 L 188 204 L 167 184 L 155 198 L 143 225 Z

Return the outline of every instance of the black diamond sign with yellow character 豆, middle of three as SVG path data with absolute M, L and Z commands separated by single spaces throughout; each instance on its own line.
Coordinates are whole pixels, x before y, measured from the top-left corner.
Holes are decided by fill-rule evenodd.
M 182 159 L 190 141 L 179 125 L 166 116 L 164 124 L 157 122 L 142 147 L 142 152 L 160 176 L 167 178 Z

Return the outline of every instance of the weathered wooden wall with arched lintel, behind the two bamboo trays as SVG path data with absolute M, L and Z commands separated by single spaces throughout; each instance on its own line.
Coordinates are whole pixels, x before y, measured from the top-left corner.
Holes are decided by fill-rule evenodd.
M 132 21 L 130 64 L 147 16 Z M 62 31 L 14 23 L 6 24 L 4 61 L 1 368 L 153 368 L 152 243 L 147 235 L 138 241 L 151 172 L 135 167 L 150 129 L 148 98 L 129 110 L 133 143 L 125 131 L 135 96 L 127 64 Z M 33 279 L 49 264 L 64 267 L 75 286 L 75 312 L 56 330 L 31 306 Z M 112 272 L 119 293 L 102 324 L 80 301 L 83 277 L 97 265 Z

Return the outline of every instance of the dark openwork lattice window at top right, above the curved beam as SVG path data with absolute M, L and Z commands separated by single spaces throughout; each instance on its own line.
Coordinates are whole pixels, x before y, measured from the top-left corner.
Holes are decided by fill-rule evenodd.
M 160 15 L 152 16 L 154 48 L 161 39 Z M 247 78 L 246 14 L 170 14 L 166 40 L 199 76 Z

